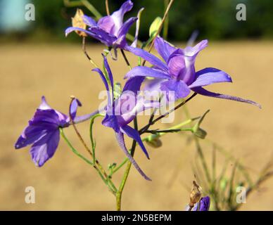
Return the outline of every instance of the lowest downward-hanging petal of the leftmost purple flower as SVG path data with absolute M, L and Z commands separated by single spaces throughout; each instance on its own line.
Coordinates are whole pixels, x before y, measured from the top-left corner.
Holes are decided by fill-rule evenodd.
M 32 148 L 30 148 L 30 154 L 32 155 L 32 160 L 35 165 L 42 167 L 42 165 L 54 155 L 59 141 L 60 132 L 57 129 L 35 142 Z

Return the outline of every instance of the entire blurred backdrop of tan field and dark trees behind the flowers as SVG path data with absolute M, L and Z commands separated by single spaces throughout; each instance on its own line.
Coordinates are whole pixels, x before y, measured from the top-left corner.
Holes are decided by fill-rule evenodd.
M 104 1 L 89 2 L 102 15 L 106 14 Z M 122 2 L 109 0 L 110 11 L 117 10 Z M 34 21 L 25 20 L 25 6 L 30 3 L 35 7 Z M 236 20 L 236 6 L 241 3 L 246 5 L 246 21 Z M 141 16 L 139 39 L 146 41 L 148 27 L 157 16 L 163 16 L 165 1 L 135 0 L 133 10 L 125 18 L 136 15 L 141 7 L 145 11 Z M 103 85 L 91 72 L 92 65 L 82 53 L 80 37 L 70 34 L 65 38 L 64 35 L 76 8 L 91 15 L 84 5 L 71 7 L 69 1 L 0 0 L 0 210 L 115 210 L 115 198 L 98 174 L 73 155 L 63 140 L 56 155 L 42 168 L 34 166 L 28 147 L 13 148 L 42 95 L 63 113 L 68 113 L 72 94 L 83 103 L 81 114 L 96 110 L 101 102 L 97 96 Z M 231 75 L 234 83 L 217 84 L 208 89 L 250 98 L 262 105 L 259 110 L 204 96 L 197 96 L 188 105 L 192 117 L 210 109 L 202 127 L 212 141 L 201 141 L 208 162 L 211 163 L 213 143 L 217 142 L 236 159 L 228 164 L 227 171 L 232 171 L 235 161 L 241 162 L 254 180 L 272 157 L 272 21 L 271 0 L 174 0 L 167 32 L 168 40 L 179 47 L 185 46 L 194 30 L 199 33 L 198 40 L 209 39 L 208 48 L 197 58 L 196 69 L 220 68 Z M 134 29 L 130 30 L 131 34 Z M 89 55 L 101 63 L 104 46 L 91 38 L 87 42 Z M 128 54 L 128 58 L 136 65 L 134 56 Z M 127 72 L 124 61 L 110 60 L 110 65 L 115 80 L 123 82 Z M 177 111 L 175 116 L 175 122 L 186 119 L 183 110 Z M 113 131 L 102 127 L 99 120 L 95 129 L 98 158 L 105 167 L 110 162 L 122 162 L 124 155 L 115 143 Z M 141 117 L 140 123 L 147 120 Z M 89 124 L 80 124 L 79 129 L 88 141 Z M 72 129 L 66 133 L 84 153 Z M 122 197 L 123 210 L 184 210 L 197 157 L 190 136 L 164 136 L 162 147 L 148 147 L 151 160 L 146 160 L 137 148 L 136 160 L 153 181 L 145 181 L 133 168 Z M 219 173 L 225 158 L 221 154 L 217 158 Z M 122 170 L 114 177 L 116 184 L 121 176 Z M 198 182 L 205 185 L 200 177 Z M 272 185 L 273 179 L 263 183 L 240 210 L 273 210 Z M 27 186 L 35 188 L 35 204 L 25 203 Z

